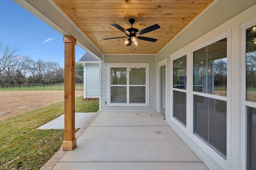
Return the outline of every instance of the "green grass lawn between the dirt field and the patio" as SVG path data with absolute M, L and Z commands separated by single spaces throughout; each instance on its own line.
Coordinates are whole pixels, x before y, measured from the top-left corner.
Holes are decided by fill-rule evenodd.
M 98 100 L 76 98 L 76 112 L 98 111 Z M 0 169 L 40 169 L 60 149 L 63 129 L 36 129 L 64 113 L 64 102 L 36 109 L 0 123 Z M 86 113 L 85 113 L 86 114 Z

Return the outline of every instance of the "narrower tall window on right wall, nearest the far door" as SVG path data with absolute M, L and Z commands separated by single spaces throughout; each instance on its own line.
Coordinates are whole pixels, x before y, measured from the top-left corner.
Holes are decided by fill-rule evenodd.
M 187 56 L 173 60 L 173 117 L 186 127 Z

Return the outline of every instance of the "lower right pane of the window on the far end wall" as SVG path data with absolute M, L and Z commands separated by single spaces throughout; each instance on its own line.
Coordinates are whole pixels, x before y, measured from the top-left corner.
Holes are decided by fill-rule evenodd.
M 145 87 L 130 87 L 130 103 L 145 103 Z

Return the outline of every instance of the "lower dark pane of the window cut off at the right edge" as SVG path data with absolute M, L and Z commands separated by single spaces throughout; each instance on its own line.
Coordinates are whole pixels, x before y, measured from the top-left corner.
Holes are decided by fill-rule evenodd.
M 247 107 L 248 114 L 248 170 L 256 167 L 256 108 Z

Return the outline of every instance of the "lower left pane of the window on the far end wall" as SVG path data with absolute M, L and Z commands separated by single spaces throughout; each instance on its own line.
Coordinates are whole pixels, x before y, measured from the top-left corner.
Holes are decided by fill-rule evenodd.
M 110 103 L 126 103 L 126 86 L 110 87 Z

